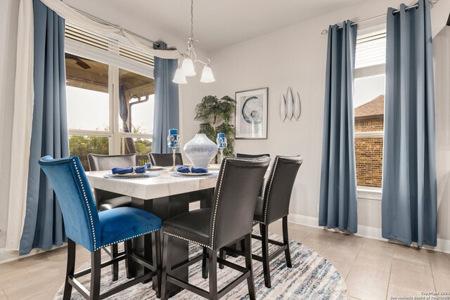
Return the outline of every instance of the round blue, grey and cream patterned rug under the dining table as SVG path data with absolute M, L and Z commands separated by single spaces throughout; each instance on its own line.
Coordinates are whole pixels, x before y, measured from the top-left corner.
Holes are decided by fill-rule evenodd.
M 272 240 L 283 241 L 279 235 L 270 234 Z M 253 253 L 261 254 L 261 242 L 253 240 Z M 255 289 L 257 299 L 349 299 L 349 292 L 345 281 L 342 279 L 338 270 L 323 258 L 317 252 L 309 247 L 290 240 L 290 253 L 293 267 L 288 268 L 285 263 L 284 253 L 280 254 L 276 259 L 271 261 L 271 288 L 264 286 L 264 275 L 262 273 L 262 263 L 253 261 L 253 269 L 255 273 Z M 276 246 L 269 245 L 274 251 Z M 200 254 L 202 248 L 198 245 L 191 244 L 189 248 L 190 257 Z M 108 255 L 103 254 L 102 261 L 108 260 Z M 244 258 L 233 258 L 227 256 L 227 260 L 244 266 Z M 84 263 L 79 270 L 89 268 L 89 262 Z M 193 285 L 208 290 L 208 280 L 201 276 L 201 262 L 195 263 L 189 268 L 189 282 Z M 231 268 L 217 269 L 217 279 L 219 289 L 236 278 L 239 273 Z M 120 261 L 120 273 L 118 282 L 111 282 L 111 268 L 103 268 L 101 274 L 101 291 L 108 289 L 113 285 L 120 284 L 126 280 L 124 270 L 124 262 Z M 89 289 L 89 275 L 79 278 L 79 281 Z M 63 286 L 60 287 L 56 294 L 55 300 L 63 299 Z M 72 289 L 72 299 L 84 299 L 75 289 Z M 157 299 L 155 291 L 151 288 L 151 283 L 143 285 L 139 283 L 119 294 L 115 294 L 108 299 Z M 176 294 L 172 299 L 194 300 L 203 299 L 196 294 L 186 290 Z M 222 299 L 249 299 L 247 281 L 238 285 L 233 291 L 226 294 Z

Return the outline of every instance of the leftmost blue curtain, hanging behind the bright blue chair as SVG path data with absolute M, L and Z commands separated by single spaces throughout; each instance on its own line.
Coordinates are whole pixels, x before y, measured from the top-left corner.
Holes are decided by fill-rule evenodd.
M 27 209 L 20 254 L 65 242 L 63 217 L 39 158 L 69 156 L 65 100 L 64 20 L 34 0 L 34 110 Z

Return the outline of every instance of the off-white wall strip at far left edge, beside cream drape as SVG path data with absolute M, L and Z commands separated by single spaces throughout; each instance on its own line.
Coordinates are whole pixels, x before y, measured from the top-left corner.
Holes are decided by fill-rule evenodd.
M 17 0 L 0 1 L 0 145 L 11 143 L 18 8 Z M 10 158 L 10 147 L 0 147 L 0 249 L 8 224 Z

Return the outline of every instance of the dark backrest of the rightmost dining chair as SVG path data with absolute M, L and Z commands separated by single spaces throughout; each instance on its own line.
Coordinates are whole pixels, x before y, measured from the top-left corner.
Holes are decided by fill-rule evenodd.
M 289 214 L 290 195 L 302 162 L 302 157 L 275 157 L 264 193 L 264 223 L 270 224 Z

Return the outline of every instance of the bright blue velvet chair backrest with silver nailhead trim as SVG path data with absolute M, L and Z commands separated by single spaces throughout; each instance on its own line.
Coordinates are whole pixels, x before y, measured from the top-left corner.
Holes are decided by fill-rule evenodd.
M 101 229 L 91 186 L 77 156 L 39 160 L 63 212 L 65 233 L 91 252 L 100 247 Z

